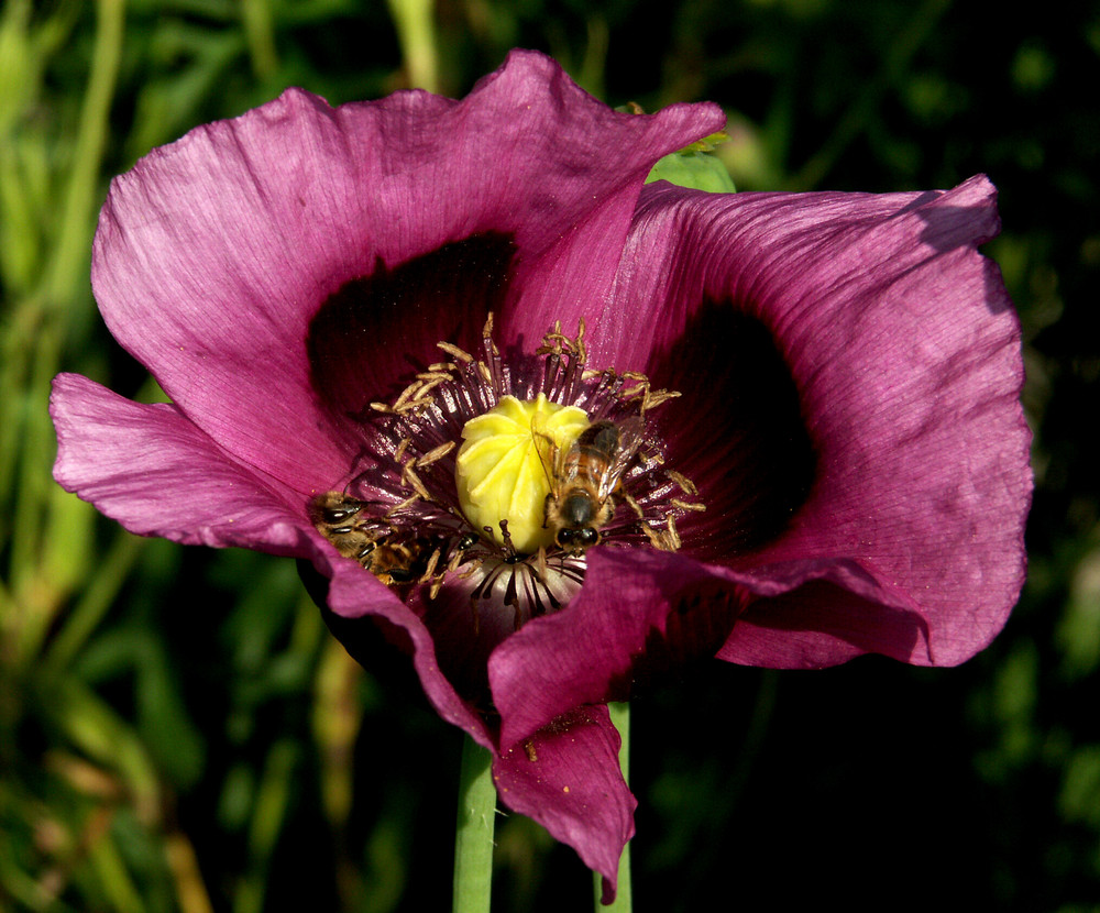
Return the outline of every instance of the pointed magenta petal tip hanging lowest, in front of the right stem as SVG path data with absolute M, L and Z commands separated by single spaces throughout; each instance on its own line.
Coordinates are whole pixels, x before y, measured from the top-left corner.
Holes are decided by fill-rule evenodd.
M 637 800 L 623 780 L 622 745 L 605 706 L 564 714 L 493 762 L 501 800 L 573 847 L 615 897 L 618 860 L 634 836 Z

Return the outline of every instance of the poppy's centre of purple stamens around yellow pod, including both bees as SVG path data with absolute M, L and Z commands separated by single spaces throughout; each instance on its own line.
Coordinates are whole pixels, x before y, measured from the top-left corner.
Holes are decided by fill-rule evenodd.
M 482 358 L 440 342 L 446 361 L 371 404 L 351 481 L 308 505 L 315 527 L 403 597 L 464 594 L 475 623 L 496 609 L 515 627 L 576 594 L 595 546 L 676 550 L 678 521 L 705 508 L 649 418 L 679 394 L 588 367 L 584 331 L 556 323 L 508 363 L 492 315 Z

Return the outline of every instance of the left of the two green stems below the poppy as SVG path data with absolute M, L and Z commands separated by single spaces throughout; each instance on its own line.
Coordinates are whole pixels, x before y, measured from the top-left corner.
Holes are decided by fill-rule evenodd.
M 493 756 L 466 736 L 462 746 L 459 820 L 454 833 L 454 913 L 488 913 L 495 825 Z

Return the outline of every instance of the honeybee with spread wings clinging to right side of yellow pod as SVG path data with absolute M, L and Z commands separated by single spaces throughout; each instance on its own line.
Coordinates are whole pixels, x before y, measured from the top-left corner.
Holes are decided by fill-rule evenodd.
M 600 530 L 615 514 L 614 493 L 641 446 L 645 430 L 646 422 L 638 416 L 620 422 L 602 419 L 588 425 L 568 448 L 536 432 L 549 451 L 549 460 L 542 460 L 550 480 L 542 526 L 553 531 L 560 549 L 575 557 L 600 542 Z

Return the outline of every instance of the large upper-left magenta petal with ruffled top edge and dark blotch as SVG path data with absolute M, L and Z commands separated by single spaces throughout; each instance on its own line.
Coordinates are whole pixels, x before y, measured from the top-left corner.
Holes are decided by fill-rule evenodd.
M 446 279 L 411 288 L 356 287 L 341 316 L 360 319 L 314 339 L 311 359 L 326 301 L 490 237 L 490 279 L 521 304 L 505 337 L 538 339 L 559 306 L 606 295 L 652 162 L 721 119 L 714 106 L 617 114 L 530 52 L 461 102 L 407 91 L 332 109 L 289 90 L 116 178 L 96 297 L 116 338 L 229 452 L 292 485 L 331 484 L 349 471 L 345 413 L 438 360 L 440 339 L 475 340 L 492 301 L 462 284 L 482 288 L 479 261 L 435 264 Z M 342 381 L 334 399 L 318 389 L 318 348 L 348 363 L 363 403 L 348 408 Z

